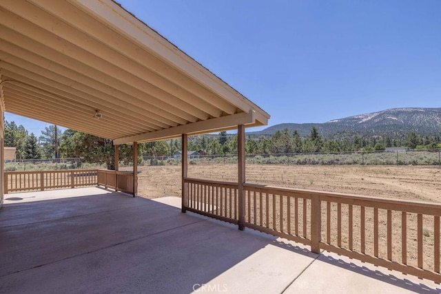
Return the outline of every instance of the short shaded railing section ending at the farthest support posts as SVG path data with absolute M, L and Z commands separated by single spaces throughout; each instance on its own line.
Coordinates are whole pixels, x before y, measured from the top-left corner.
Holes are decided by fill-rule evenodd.
M 116 191 L 133 194 L 133 173 L 99 169 L 98 185 Z

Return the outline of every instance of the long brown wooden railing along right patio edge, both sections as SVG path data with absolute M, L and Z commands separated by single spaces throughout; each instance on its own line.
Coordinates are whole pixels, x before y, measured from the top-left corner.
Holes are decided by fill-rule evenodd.
M 238 223 L 238 185 L 185 179 L 185 208 Z M 245 227 L 441 282 L 441 204 L 243 185 Z

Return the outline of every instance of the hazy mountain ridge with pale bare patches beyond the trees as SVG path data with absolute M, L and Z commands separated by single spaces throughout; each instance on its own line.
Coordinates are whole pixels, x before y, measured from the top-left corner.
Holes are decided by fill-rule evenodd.
M 422 135 L 441 134 L 441 107 L 401 107 L 329 120 L 326 123 L 281 123 L 249 134 L 270 136 L 287 128 L 307 136 L 315 126 L 325 138 L 358 134 L 360 136 L 396 136 L 415 132 Z M 248 133 L 247 133 L 248 134 Z

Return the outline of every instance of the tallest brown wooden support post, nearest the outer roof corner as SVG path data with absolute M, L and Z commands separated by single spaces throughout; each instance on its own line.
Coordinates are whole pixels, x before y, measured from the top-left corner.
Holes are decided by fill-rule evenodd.
M 239 230 L 245 229 L 245 125 L 237 127 L 237 162 L 238 162 L 238 225 Z M 249 205 L 249 204 L 248 204 Z

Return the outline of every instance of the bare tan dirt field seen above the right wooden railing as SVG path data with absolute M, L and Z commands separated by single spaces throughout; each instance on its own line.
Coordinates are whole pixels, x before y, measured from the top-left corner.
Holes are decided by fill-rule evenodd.
M 139 167 L 139 195 L 181 196 L 180 166 Z M 237 181 L 236 165 L 189 165 L 188 176 Z M 249 183 L 441 202 L 441 169 L 427 166 L 247 165 Z

